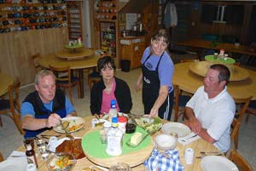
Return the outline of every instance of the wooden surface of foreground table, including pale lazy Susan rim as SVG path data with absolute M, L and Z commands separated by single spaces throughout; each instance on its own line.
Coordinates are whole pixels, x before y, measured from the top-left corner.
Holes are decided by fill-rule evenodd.
M 78 132 L 74 132 L 73 133 L 73 136 L 74 137 L 81 137 L 83 138 L 86 134 L 88 134 L 88 132 L 90 132 L 92 130 L 91 128 L 91 120 L 95 118 L 94 116 L 88 116 L 88 117 L 84 117 L 84 128 L 82 129 L 79 129 Z M 166 120 L 162 120 L 162 123 L 167 123 L 168 121 Z M 46 135 L 52 135 L 52 136 L 55 136 L 59 133 L 56 133 L 53 129 L 51 130 L 47 130 L 47 131 L 44 131 L 44 133 L 42 133 Z M 154 138 L 158 135 L 158 134 L 163 134 L 161 132 L 161 130 L 159 130 L 157 133 L 151 135 L 151 141 L 154 140 Z M 38 135 L 39 138 L 41 138 L 40 134 Z M 65 134 L 61 134 L 61 137 L 58 137 L 59 139 L 60 138 L 63 138 L 65 137 Z M 46 139 L 48 140 L 48 139 Z M 99 139 L 95 139 L 95 140 L 100 140 L 100 137 Z M 21 142 L 20 142 L 21 143 Z M 154 142 L 151 142 L 151 143 L 154 143 Z M 95 146 L 92 147 L 92 148 L 96 148 Z M 151 148 L 150 146 L 148 148 Z M 192 164 L 186 164 L 185 161 L 184 161 L 184 151 L 187 149 L 187 148 L 192 148 L 194 151 L 195 151 L 195 155 L 194 155 L 194 162 Z M 25 147 L 24 145 L 20 145 L 20 147 L 17 149 L 18 151 L 25 151 Z M 37 152 L 37 148 L 35 149 Z M 151 151 L 152 149 L 150 149 Z M 149 153 L 150 153 L 149 151 Z M 205 152 L 219 152 L 221 153 L 220 151 L 218 151 L 218 149 L 212 145 L 211 143 L 208 143 L 206 140 L 202 140 L 202 139 L 198 139 L 198 140 L 195 140 L 187 145 L 182 145 L 180 143 L 177 143 L 177 151 L 179 153 L 179 157 L 180 157 L 180 162 L 181 164 L 183 164 L 184 166 L 184 171 L 201 171 L 201 151 L 205 151 Z M 145 155 L 145 152 L 143 151 L 135 151 L 132 153 L 132 156 L 131 155 L 126 155 L 126 161 L 127 162 L 132 162 L 132 163 L 135 163 L 134 161 L 140 157 L 140 155 Z M 148 155 L 148 153 L 147 153 Z M 119 156 L 122 160 L 122 161 L 125 161 L 125 155 L 122 156 Z M 145 157 L 145 156 L 143 156 Z M 109 161 L 112 161 L 112 163 L 109 163 L 109 165 L 114 165 L 116 164 L 116 162 L 118 162 L 118 157 L 113 157 L 113 159 L 116 159 L 116 160 L 111 160 L 111 158 L 109 159 Z M 90 161 L 90 157 L 84 157 L 84 158 L 81 158 L 77 161 L 75 167 L 73 168 L 73 171 L 81 171 L 83 168 L 86 168 L 86 167 L 90 167 L 90 166 L 97 166 L 99 165 L 100 166 L 101 162 L 96 162 L 96 160 L 93 160 Z M 47 170 L 47 164 L 46 164 L 46 161 L 42 159 L 42 157 L 40 156 L 40 154 L 38 155 L 38 171 L 45 171 Z M 143 170 L 146 170 L 146 168 L 144 167 L 143 165 L 143 161 L 137 163 L 136 166 L 132 167 L 132 170 L 133 171 L 143 171 Z

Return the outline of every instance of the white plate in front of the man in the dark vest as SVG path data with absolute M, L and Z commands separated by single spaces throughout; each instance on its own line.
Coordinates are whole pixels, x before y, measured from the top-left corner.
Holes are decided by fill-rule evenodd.
M 69 125 L 68 125 L 68 128 L 71 128 L 75 125 L 79 125 L 79 128 L 76 128 L 75 130 L 73 131 L 70 131 L 69 133 L 73 133 L 75 131 L 78 131 L 79 129 L 83 128 L 84 127 L 84 119 L 82 117 L 64 117 L 61 119 L 61 121 L 69 121 Z M 58 133 L 65 133 L 65 131 L 61 128 L 61 125 L 60 126 L 57 126 L 54 128 L 54 130 Z

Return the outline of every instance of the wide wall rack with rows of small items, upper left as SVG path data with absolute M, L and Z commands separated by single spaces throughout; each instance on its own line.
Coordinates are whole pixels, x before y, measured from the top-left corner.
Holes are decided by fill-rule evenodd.
M 67 26 L 66 3 L 0 3 L 0 33 Z

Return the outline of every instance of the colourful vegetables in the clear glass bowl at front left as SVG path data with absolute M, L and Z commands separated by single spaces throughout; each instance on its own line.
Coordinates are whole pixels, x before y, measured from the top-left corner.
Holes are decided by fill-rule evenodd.
M 73 157 L 71 155 L 57 154 L 49 159 L 48 167 L 52 170 L 71 170 L 73 167 Z

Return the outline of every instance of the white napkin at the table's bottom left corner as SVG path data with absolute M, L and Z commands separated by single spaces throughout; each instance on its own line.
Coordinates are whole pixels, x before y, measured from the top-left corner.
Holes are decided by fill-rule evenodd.
M 25 152 L 13 151 L 5 161 L 0 162 L 0 171 L 26 171 L 26 165 Z

